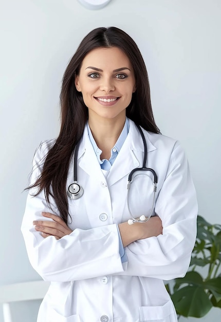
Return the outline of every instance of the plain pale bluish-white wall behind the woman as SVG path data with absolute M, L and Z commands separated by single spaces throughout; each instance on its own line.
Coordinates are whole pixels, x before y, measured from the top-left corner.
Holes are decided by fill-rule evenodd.
M 120 27 L 137 42 L 158 127 L 187 151 L 199 213 L 221 222 L 220 14 L 220 0 L 112 0 L 98 11 L 77 0 L 0 0 L 0 284 L 40 279 L 20 232 L 22 190 L 35 148 L 58 134 L 66 64 L 96 27 Z M 32 309 L 23 303 L 16 322 L 34 322 Z M 214 309 L 204 320 L 218 314 Z

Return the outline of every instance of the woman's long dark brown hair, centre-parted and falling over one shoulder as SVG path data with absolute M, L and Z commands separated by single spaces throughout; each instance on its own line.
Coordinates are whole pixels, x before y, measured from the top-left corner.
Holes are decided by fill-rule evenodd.
M 83 135 L 88 110 L 82 94 L 76 90 L 75 76 L 79 74 L 82 61 L 95 48 L 118 47 L 130 59 L 136 80 L 136 92 L 127 106 L 126 116 L 147 131 L 160 133 L 151 106 L 148 73 L 141 53 L 133 39 L 116 27 L 96 28 L 89 32 L 71 58 L 62 81 L 61 129 L 57 140 L 49 150 L 40 177 L 27 189 L 37 187 L 38 195 L 44 190 L 47 203 L 51 195 L 57 204 L 61 218 L 67 223 L 68 201 L 66 194 L 67 173 L 70 159 L 77 142 Z

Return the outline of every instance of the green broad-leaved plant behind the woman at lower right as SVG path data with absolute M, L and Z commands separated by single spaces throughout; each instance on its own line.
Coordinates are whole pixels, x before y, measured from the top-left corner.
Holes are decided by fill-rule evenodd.
M 183 278 L 167 284 L 178 317 L 206 315 L 212 307 L 221 308 L 221 225 L 197 218 L 197 237 L 190 267 Z M 204 268 L 202 268 L 204 267 Z M 203 273 L 203 277 L 197 268 Z

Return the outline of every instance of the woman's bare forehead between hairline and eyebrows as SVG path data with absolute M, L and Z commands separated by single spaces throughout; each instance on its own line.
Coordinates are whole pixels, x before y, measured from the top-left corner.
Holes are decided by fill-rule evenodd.
M 131 67 L 131 62 L 126 54 L 118 47 L 96 48 L 87 53 L 82 62 L 82 68 L 88 66 L 98 67 Z

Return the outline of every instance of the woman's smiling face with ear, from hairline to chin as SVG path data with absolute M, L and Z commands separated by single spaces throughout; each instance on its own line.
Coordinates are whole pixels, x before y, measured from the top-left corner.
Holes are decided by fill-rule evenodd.
M 89 120 L 124 118 L 136 90 L 130 60 L 117 47 L 91 50 L 84 58 L 75 85 L 88 108 Z

